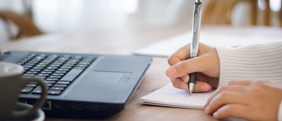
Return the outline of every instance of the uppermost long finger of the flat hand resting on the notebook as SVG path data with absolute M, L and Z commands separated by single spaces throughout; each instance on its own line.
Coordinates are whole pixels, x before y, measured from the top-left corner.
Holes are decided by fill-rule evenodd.
M 220 86 L 219 88 L 217 88 L 217 90 L 215 90 L 211 96 L 208 98 L 207 103 L 204 105 L 204 109 L 206 108 L 206 106 L 210 105 L 210 101 L 217 96 L 219 93 L 223 92 L 223 91 L 233 91 L 233 92 L 239 92 L 239 93 L 244 93 L 246 91 L 244 86 L 241 85 L 230 85 L 230 86 Z

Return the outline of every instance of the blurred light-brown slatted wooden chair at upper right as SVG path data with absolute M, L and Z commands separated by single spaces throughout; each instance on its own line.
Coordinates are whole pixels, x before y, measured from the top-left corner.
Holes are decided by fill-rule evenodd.
M 231 24 L 231 13 L 239 1 L 247 1 L 250 6 L 250 25 L 257 25 L 257 0 L 210 0 L 208 5 L 203 10 L 202 24 L 203 25 L 230 25 Z M 266 0 L 266 8 L 263 15 L 263 25 L 270 25 L 270 6 L 269 0 Z M 280 10 L 280 26 L 282 27 L 282 9 Z

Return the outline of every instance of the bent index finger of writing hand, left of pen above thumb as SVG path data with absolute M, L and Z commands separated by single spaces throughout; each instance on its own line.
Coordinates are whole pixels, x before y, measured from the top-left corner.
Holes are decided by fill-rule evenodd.
M 170 66 L 179 63 L 180 61 L 190 58 L 190 43 L 176 50 L 172 55 L 168 57 L 168 64 Z

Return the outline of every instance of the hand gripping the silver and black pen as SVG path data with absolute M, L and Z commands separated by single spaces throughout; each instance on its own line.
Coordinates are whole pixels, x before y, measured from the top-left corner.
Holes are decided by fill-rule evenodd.
M 215 47 L 199 43 L 198 57 L 190 58 L 190 44 L 181 47 L 168 58 L 171 67 L 166 75 L 174 87 L 188 91 L 189 73 L 197 72 L 193 92 L 206 92 L 219 82 L 219 58 Z

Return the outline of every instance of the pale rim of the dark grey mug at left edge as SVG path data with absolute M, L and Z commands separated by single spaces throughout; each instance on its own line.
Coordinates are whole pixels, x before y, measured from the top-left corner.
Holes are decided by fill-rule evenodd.
M 1 66 L 1 65 L 4 65 L 4 66 Z M 1 68 L 5 68 L 5 66 L 8 66 L 10 68 L 8 70 L 5 70 L 6 72 L 5 71 L 1 72 L 0 78 L 23 73 L 23 67 L 21 65 L 17 65 L 15 63 L 0 61 L 0 70 L 1 70 Z

